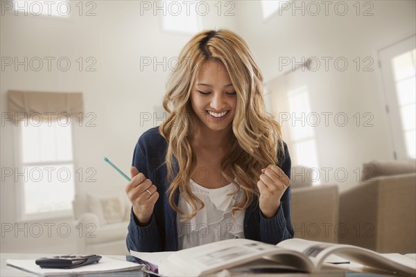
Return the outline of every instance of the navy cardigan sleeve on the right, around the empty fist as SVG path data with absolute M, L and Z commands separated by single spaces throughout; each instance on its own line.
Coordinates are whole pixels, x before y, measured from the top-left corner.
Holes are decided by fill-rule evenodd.
M 277 166 L 291 179 L 291 157 L 288 146 L 284 143 L 284 157 Z M 280 206 L 274 217 L 266 218 L 259 209 L 260 240 L 270 244 L 277 244 L 282 240 L 293 238 L 294 231 L 291 220 L 291 186 L 288 186 L 280 199 Z

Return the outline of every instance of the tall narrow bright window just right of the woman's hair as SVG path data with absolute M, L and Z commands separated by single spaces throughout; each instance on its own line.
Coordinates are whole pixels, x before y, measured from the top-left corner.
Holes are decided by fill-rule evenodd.
M 318 172 L 318 155 L 315 146 L 315 132 L 309 125 L 306 117 L 311 113 L 309 94 L 306 86 L 288 91 L 288 103 L 291 111 L 291 143 L 295 150 L 295 162 L 299 166 L 315 168 L 313 174 Z M 319 184 L 318 176 L 311 176 L 313 184 Z

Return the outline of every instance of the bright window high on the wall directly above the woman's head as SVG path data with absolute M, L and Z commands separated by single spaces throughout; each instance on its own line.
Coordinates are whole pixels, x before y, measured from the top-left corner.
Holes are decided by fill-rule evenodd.
M 179 33 L 198 33 L 200 17 L 209 12 L 208 2 L 202 1 L 158 1 L 154 12 L 162 15 L 162 28 Z

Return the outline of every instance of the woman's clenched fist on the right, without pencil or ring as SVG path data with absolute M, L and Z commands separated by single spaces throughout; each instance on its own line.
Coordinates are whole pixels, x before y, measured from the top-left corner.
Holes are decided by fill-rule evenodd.
M 267 218 L 274 217 L 280 206 L 280 198 L 288 188 L 290 180 L 276 165 L 269 165 L 261 170 L 257 187 L 260 191 L 259 205 Z

